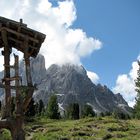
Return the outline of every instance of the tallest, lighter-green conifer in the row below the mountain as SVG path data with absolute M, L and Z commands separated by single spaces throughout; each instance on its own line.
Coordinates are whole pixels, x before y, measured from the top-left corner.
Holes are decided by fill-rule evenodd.
M 59 107 L 58 107 L 56 95 L 52 95 L 49 99 L 49 102 L 47 105 L 47 117 L 50 119 L 59 119 L 60 118 Z

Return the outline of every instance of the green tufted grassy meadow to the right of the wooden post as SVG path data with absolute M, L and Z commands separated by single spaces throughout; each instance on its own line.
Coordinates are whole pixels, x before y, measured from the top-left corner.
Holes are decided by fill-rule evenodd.
M 38 118 L 25 127 L 27 140 L 140 140 L 140 121 L 112 117 L 80 120 Z

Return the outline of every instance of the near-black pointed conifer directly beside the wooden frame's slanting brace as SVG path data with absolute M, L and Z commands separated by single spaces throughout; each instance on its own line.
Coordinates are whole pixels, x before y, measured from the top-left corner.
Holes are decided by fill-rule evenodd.
M 32 117 L 32 116 L 35 116 L 35 114 L 36 114 L 36 105 L 35 105 L 34 99 L 32 98 L 27 107 L 27 111 L 26 111 L 25 115 L 27 117 Z

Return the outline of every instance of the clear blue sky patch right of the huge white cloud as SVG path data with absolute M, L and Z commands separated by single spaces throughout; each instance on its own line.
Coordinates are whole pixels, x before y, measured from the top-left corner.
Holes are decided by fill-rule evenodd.
M 77 20 L 89 36 L 99 38 L 103 48 L 86 59 L 87 69 L 110 88 L 117 76 L 128 73 L 140 54 L 139 0 L 75 0 Z

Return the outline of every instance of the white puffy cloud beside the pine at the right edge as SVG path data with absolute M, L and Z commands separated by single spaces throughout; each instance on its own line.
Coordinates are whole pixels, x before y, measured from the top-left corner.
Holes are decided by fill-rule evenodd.
M 113 88 L 114 93 L 121 93 L 129 106 L 133 107 L 135 104 L 135 79 L 137 78 L 138 64 L 132 63 L 132 69 L 128 74 L 121 74 L 117 77 L 116 86 Z

